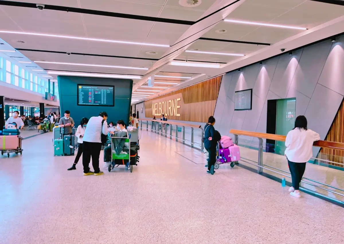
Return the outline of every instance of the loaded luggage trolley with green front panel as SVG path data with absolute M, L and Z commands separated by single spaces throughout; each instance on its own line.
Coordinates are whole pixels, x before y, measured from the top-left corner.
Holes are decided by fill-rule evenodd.
M 128 170 L 130 168 L 130 173 L 132 173 L 133 165 L 137 165 L 138 162 L 138 146 L 136 146 L 135 151 L 131 151 L 130 148 L 131 143 L 137 143 L 138 140 L 138 130 L 128 131 L 128 137 L 110 137 L 111 138 L 111 164 L 108 166 L 108 171 L 110 172 L 111 169 L 113 170 L 114 167 L 118 167 L 119 165 L 126 165 L 128 166 Z M 129 151 L 128 154 L 116 154 L 115 153 L 115 143 L 114 139 L 125 139 L 125 143 L 129 143 Z

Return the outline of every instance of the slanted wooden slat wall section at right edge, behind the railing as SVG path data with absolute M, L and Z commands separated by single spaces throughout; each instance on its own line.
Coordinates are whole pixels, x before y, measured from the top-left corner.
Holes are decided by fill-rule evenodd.
M 342 102 L 338 113 L 333 121 L 333 124 L 327 134 L 325 141 L 334 141 L 334 142 L 342 142 L 344 143 L 344 101 Z M 341 164 L 330 163 L 325 161 L 320 161 L 321 163 L 326 163 L 330 165 L 334 165 L 337 167 L 344 167 L 343 158 L 344 158 L 344 151 L 330 149 L 330 148 L 321 148 L 319 155 L 319 159 L 329 160 L 333 162 L 338 162 Z

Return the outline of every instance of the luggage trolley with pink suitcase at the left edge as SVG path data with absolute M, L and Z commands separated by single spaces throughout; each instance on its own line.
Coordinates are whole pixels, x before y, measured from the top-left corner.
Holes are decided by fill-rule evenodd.
M 7 158 L 10 157 L 10 153 L 14 152 L 15 154 L 20 153 L 22 155 L 23 149 L 21 148 L 22 137 L 20 137 L 20 130 L 4 129 L 3 135 L 0 136 L 1 144 L 1 155 L 7 153 Z M 8 146 L 9 145 L 9 146 Z M 15 147 L 17 146 L 17 147 Z

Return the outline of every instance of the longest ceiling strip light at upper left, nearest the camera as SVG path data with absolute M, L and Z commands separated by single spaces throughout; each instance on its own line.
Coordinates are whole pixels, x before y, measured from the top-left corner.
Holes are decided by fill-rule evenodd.
M 141 45 L 141 46 L 170 47 L 170 45 L 162 45 L 162 44 L 140 43 L 140 42 L 126 42 L 126 41 L 120 41 L 120 40 L 97 39 L 97 38 L 87 38 L 87 37 L 78 37 L 78 36 L 62 36 L 62 35 L 51 35 L 51 34 L 43 34 L 43 33 L 19 32 L 19 31 L 0 31 L 0 33 L 22 34 L 22 35 L 33 35 L 33 36 L 47 36 L 47 37 L 59 37 L 59 38 L 68 38 L 68 39 L 77 39 L 77 40 L 89 40 L 89 41 L 96 41 L 96 42 L 133 44 L 133 45 Z

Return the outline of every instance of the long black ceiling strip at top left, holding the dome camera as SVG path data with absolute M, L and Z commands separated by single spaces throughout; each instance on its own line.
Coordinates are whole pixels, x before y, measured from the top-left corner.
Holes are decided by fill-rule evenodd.
M 24 8 L 34 8 L 34 9 L 37 8 L 36 7 L 36 3 L 14 2 L 14 1 L 4 1 L 4 0 L 0 0 L 0 5 L 7 5 L 7 6 L 14 6 L 14 7 L 24 7 Z M 107 11 L 99 11 L 99 10 L 92 10 L 92 9 L 81 9 L 81 8 L 72 8 L 72 7 L 64 7 L 64 6 L 49 5 L 49 4 L 45 4 L 44 9 L 64 11 L 64 12 L 73 12 L 73 13 L 94 14 L 94 15 L 117 17 L 117 18 L 132 19 L 132 20 L 146 20 L 146 21 L 153 21 L 153 22 L 181 24 L 181 25 L 193 25 L 193 24 L 196 23 L 194 21 L 164 19 L 164 18 L 151 17 L 151 16 L 141 16 L 141 15 L 135 15 L 135 14 L 114 13 L 114 12 L 107 12 Z

